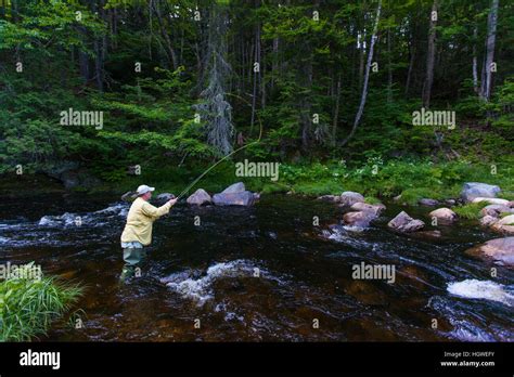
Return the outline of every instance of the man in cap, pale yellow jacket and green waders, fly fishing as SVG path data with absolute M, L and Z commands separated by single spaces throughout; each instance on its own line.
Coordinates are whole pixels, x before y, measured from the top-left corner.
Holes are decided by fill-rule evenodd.
M 133 276 L 136 268 L 146 256 L 144 247 L 152 243 L 153 222 L 167 214 L 178 200 L 170 199 L 164 206 L 154 207 L 149 203 L 154 190 L 145 184 L 140 185 L 136 192 L 138 198 L 127 214 L 127 224 L 121 234 L 125 265 L 120 278 L 124 281 Z

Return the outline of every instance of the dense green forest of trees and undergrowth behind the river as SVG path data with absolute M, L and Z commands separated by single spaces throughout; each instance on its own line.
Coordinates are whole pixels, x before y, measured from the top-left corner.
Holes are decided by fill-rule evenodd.
M 136 166 L 174 188 L 250 144 L 210 181 L 244 158 L 282 164 L 268 191 L 329 193 L 334 174 L 361 184 L 380 166 L 369 194 L 398 195 L 413 187 L 388 177 L 412 164 L 416 188 L 491 165 L 509 178 L 509 1 L 8 0 L 0 17 L 3 174 L 108 188 L 133 185 Z M 102 125 L 63 121 L 73 112 Z

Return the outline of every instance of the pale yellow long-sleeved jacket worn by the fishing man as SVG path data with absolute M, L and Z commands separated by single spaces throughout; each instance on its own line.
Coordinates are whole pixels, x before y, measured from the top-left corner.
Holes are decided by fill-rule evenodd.
M 121 234 L 123 243 L 139 242 L 144 246 L 152 243 L 152 224 L 159 217 L 169 212 L 171 205 L 166 203 L 162 207 L 154 207 L 146 200 L 138 197 L 130 206 L 127 224 Z

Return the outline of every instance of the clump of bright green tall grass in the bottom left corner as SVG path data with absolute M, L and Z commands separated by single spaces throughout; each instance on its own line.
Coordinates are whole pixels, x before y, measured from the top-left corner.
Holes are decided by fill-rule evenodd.
M 29 341 L 46 334 L 81 294 L 78 285 L 52 276 L 8 277 L 0 282 L 0 341 Z

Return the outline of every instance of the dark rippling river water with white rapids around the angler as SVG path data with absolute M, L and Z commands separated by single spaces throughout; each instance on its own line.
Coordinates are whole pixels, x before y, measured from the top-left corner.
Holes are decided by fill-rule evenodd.
M 498 237 L 476 224 L 440 226 L 440 239 L 397 235 L 386 229 L 400 210 L 391 205 L 371 229 L 326 239 L 323 230 L 342 209 L 311 198 L 265 196 L 253 208 L 182 204 L 155 223 L 143 276 L 124 285 L 127 210 L 108 197 L 0 203 L 0 262 L 34 260 L 87 286 L 77 306 L 83 328 L 56 323 L 41 340 L 514 340 L 514 272 L 464 253 Z M 429 223 L 428 208 L 407 211 Z M 396 282 L 354 280 L 361 262 L 394 264 Z M 505 285 L 509 300 L 448 291 L 466 280 Z

